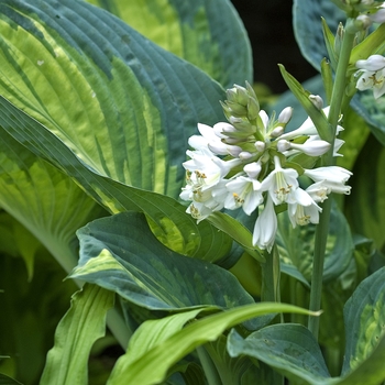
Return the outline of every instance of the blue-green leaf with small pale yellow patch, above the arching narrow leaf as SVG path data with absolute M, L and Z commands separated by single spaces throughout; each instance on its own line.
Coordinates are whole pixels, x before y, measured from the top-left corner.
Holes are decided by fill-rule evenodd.
M 139 212 L 96 220 L 78 231 L 72 274 L 148 309 L 231 308 L 254 300 L 228 271 L 164 248 Z

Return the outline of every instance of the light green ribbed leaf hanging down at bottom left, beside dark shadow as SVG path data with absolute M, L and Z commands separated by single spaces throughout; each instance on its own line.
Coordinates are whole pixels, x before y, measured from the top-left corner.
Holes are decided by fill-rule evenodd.
M 87 384 L 87 362 L 94 342 L 105 336 L 107 310 L 114 294 L 85 285 L 56 329 L 55 345 L 48 352 L 41 384 Z

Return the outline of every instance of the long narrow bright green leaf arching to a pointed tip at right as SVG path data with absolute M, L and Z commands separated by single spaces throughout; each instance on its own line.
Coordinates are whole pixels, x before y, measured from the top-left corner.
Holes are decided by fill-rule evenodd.
M 148 350 L 145 356 L 138 358 L 128 365 L 124 365 L 125 355 L 122 356 L 119 366 L 124 366 L 124 370 L 117 370 L 117 373 L 113 371 L 108 385 L 121 384 L 124 381 L 141 385 L 160 383 L 172 365 L 197 346 L 217 340 L 226 329 L 270 312 L 309 314 L 308 310 L 292 305 L 263 302 L 208 316 L 176 331 L 167 340 Z

